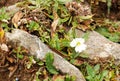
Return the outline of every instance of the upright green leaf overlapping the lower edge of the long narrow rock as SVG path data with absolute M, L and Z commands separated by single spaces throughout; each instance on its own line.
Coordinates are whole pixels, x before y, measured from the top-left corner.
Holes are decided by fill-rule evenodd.
M 47 70 L 51 73 L 51 74 L 58 74 L 56 68 L 53 66 L 53 62 L 54 62 L 54 55 L 52 53 L 47 53 L 46 57 L 46 68 Z

